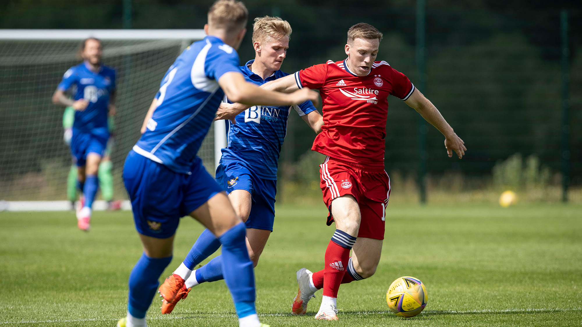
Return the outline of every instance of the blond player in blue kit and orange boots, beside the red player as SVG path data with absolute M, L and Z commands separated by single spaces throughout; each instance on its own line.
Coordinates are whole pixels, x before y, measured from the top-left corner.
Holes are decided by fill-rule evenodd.
M 255 19 L 255 59 L 240 67 L 247 81 L 261 85 L 288 75 L 279 69 L 291 32 L 289 23 L 279 17 Z M 273 230 L 277 162 L 293 109 L 316 133 L 321 131 L 323 120 L 311 101 L 299 106 L 253 106 L 236 116 L 236 125 L 230 123 L 228 147 L 222 149 L 216 172 L 218 183 L 226 189 L 237 215 L 246 224 L 247 247 L 255 266 Z M 162 314 L 169 314 L 191 287 L 223 279 L 222 255 L 192 270 L 218 247 L 220 242 L 214 234 L 204 230 L 186 259 L 160 287 L 160 293 L 179 290 L 171 292 L 176 294 L 171 301 L 164 297 Z

